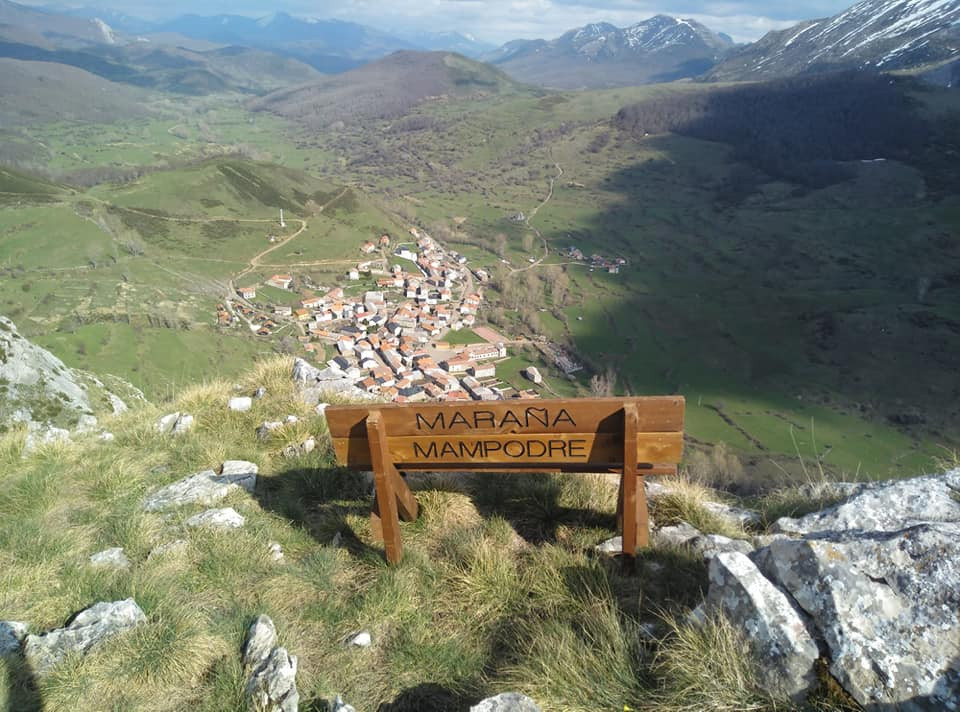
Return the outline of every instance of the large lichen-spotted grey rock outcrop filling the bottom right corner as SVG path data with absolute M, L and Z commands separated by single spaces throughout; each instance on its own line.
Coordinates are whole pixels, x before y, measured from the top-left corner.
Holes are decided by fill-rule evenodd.
M 753 604 L 750 618 L 717 602 L 748 590 L 772 597 L 772 589 L 800 612 L 830 672 L 861 705 L 958 710 L 960 469 L 852 491 L 833 507 L 778 521 L 781 534 L 751 555 L 756 566 L 742 555 L 714 557 L 708 601 L 735 623 L 759 616 L 769 628 L 782 606 Z M 768 668 L 772 659 L 758 655 Z

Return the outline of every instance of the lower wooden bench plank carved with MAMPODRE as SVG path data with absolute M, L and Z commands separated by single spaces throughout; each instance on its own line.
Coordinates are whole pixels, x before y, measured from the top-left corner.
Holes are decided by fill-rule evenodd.
M 683 456 L 683 433 L 637 433 L 637 463 L 676 463 Z M 337 460 L 357 469 L 370 469 L 371 445 L 366 438 L 335 438 Z M 516 465 L 563 470 L 564 466 L 596 469 L 623 467 L 623 435 L 612 433 L 551 433 L 509 436 L 429 436 L 386 439 L 390 461 L 400 469 L 414 466 Z

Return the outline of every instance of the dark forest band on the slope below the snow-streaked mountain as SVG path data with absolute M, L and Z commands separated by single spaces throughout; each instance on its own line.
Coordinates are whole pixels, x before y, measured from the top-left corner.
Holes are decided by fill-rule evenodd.
M 840 161 L 915 155 L 927 134 L 915 105 L 901 80 L 857 72 L 659 96 L 615 125 L 728 143 L 769 176 L 820 186 L 846 177 Z

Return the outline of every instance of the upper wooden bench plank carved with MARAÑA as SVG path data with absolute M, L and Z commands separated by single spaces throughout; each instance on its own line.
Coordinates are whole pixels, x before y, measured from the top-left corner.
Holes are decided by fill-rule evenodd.
M 683 430 L 682 396 L 581 398 L 478 403 L 378 405 L 390 437 L 423 435 L 506 435 L 623 433 L 624 403 L 636 403 L 640 432 Z M 369 406 L 330 406 L 330 435 L 364 437 Z

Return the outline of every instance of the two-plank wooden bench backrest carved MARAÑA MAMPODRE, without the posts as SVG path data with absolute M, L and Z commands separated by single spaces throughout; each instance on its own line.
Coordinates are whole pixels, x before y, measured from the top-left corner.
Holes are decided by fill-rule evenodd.
M 624 413 L 636 411 L 641 469 L 679 463 L 681 396 L 331 406 L 327 424 L 338 461 L 370 469 L 367 417 L 379 411 L 390 460 L 401 470 L 621 469 Z

